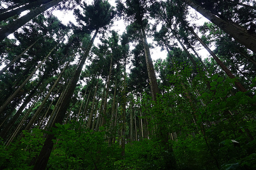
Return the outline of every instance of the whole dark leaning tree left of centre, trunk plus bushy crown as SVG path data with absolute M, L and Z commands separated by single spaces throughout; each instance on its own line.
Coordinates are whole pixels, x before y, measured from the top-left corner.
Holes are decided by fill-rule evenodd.
M 82 67 L 93 45 L 94 39 L 97 33 L 100 31 L 100 29 L 105 29 L 105 27 L 112 22 L 112 19 L 115 15 L 115 11 L 113 10 L 113 7 L 108 3 L 108 1 L 102 1 L 102 0 L 95 0 L 92 5 L 87 5 L 86 3 L 84 3 L 83 10 L 84 10 L 85 16 L 82 16 L 78 11 L 76 11 L 75 13 L 80 20 L 86 23 L 86 25 L 83 28 L 87 29 L 87 31 L 89 32 L 95 31 L 95 33 L 91 41 L 87 45 L 87 48 L 85 49 L 85 53 L 81 58 L 81 61 L 79 63 L 79 66 L 77 67 L 77 70 L 75 71 L 75 75 L 72 78 L 72 83 L 70 84 L 69 90 L 67 91 L 67 94 L 62 101 L 62 105 L 56 115 L 54 123 L 62 124 L 62 121 L 66 114 L 66 110 L 68 109 L 68 106 L 69 106 L 70 99 L 75 90 L 76 83 L 79 80 Z M 47 135 L 46 141 L 37 158 L 37 161 L 33 170 L 44 170 L 46 168 L 50 153 L 53 149 L 53 141 L 52 141 L 53 138 L 54 138 L 54 135 Z

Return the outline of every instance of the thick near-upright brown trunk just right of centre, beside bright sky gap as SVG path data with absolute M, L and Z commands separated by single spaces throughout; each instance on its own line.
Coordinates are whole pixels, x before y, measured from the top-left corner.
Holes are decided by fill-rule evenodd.
M 158 83 L 157 83 L 156 75 L 154 72 L 154 65 L 153 65 L 153 62 L 151 59 L 146 33 L 145 33 L 144 29 L 141 29 L 141 32 L 143 35 L 143 45 L 144 45 L 144 51 L 145 51 L 145 57 L 146 57 L 146 64 L 147 64 L 147 70 L 148 70 L 151 95 L 152 95 L 153 100 L 156 102 L 157 94 L 159 93 Z

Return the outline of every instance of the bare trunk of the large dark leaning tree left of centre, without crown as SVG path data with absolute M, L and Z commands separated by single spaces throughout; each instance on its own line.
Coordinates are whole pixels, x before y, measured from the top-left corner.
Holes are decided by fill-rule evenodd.
M 56 115 L 56 118 L 55 118 L 55 121 L 54 121 L 54 127 L 56 127 L 55 126 L 56 123 L 62 124 L 62 121 L 65 117 L 66 111 L 69 107 L 69 102 L 70 102 L 71 97 L 74 93 L 76 83 L 79 80 L 79 77 L 80 77 L 80 74 L 81 74 L 81 71 L 82 71 L 82 67 L 85 64 L 85 60 L 86 60 L 87 56 L 89 55 L 89 51 L 92 47 L 92 44 L 94 42 L 94 39 L 95 39 L 97 33 L 98 33 L 98 29 L 95 31 L 91 41 L 89 42 L 89 44 L 88 44 L 88 46 L 85 50 L 85 54 L 82 56 L 82 60 L 78 65 L 78 68 L 77 68 L 77 70 L 75 72 L 75 75 L 72 79 L 72 83 L 70 84 L 69 90 L 67 91 L 67 94 L 66 94 L 66 96 L 64 97 L 64 99 L 62 101 L 62 105 L 59 109 L 59 112 Z M 51 151 L 53 149 L 53 141 L 52 141 L 53 139 L 54 139 L 53 134 L 48 134 L 47 135 L 46 141 L 44 142 L 43 148 L 42 148 L 42 150 L 41 150 L 41 152 L 40 152 L 40 154 L 39 154 L 39 156 L 36 160 L 36 164 L 35 164 L 33 170 L 45 170 L 47 162 L 49 160 L 49 156 L 50 156 Z

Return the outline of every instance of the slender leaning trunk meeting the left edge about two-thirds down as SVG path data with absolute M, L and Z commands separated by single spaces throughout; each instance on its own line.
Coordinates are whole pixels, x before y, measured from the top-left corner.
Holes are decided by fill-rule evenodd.
M 44 63 L 44 61 L 46 61 L 46 59 L 49 57 L 49 55 L 53 52 L 53 50 L 56 48 L 57 45 L 55 45 L 55 47 L 53 47 L 53 49 L 49 52 L 49 54 L 43 59 L 43 61 L 41 61 L 41 63 L 33 70 L 33 72 L 26 78 L 26 80 L 20 85 L 20 87 L 7 99 L 7 101 L 5 103 L 3 103 L 3 105 L 0 107 L 0 115 L 3 114 L 4 109 L 11 103 L 11 101 L 13 100 L 14 97 L 16 97 L 16 95 L 20 92 L 21 89 L 23 89 L 23 87 L 26 85 L 26 83 L 30 80 L 30 78 L 36 73 L 36 71 L 39 69 L 39 67 L 42 66 L 42 64 Z

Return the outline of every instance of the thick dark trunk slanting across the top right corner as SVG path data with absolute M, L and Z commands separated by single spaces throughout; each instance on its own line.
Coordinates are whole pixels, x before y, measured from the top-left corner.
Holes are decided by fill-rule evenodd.
M 242 45 L 244 45 L 246 48 L 250 49 L 254 53 L 256 53 L 256 34 L 249 34 L 248 30 L 243 28 L 242 26 L 237 25 L 236 23 L 224 20 L 213 13 L 210 13 L 210 11 L 204 9 L 202 6 L 195 4 L 192 2 L 192 0 L 184 0 L 187 5 L 191 6 L 197 12 L 202 14 L 204 17 L 209 19 L 211 22 L 213 22 L 216 26 L 220 27 L 224 32 L 231 35 L 237 42 L 240 42 Z

